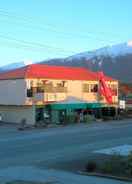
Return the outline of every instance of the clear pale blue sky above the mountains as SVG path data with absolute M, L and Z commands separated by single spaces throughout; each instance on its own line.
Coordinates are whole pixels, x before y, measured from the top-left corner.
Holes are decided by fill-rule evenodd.
M 0 66 L 132 40 L 132 0 L 0 0 Z

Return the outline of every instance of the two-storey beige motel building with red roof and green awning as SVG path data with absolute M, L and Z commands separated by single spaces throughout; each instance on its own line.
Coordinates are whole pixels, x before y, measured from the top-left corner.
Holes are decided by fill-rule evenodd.
M 32 64 L 0 74 L 2 121 L 27 124 L 63 122 L 75 116 L 118 107 L 118 81 L 104 76 L 114 91 L 112 103 L 100 93 L 98 73 L 85 68 Z

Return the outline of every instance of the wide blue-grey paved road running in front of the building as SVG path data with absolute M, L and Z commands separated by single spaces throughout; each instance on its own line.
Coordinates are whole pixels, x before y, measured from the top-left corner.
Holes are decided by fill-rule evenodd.
M 79 170 L 93 152 L 132 145 L 132 120 L 18 132 L 0 128 L 0 168 Z

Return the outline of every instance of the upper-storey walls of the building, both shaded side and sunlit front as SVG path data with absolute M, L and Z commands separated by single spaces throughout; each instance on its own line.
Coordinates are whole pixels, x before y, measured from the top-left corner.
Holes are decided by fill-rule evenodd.
M 40 79 L 44 80 L 44 79 Z M 45 79 L 47 80 L 47 79 Z M 65 80 L 65 87 L 67 92 L 51 93 L 45 92 L 42 95 L 36 94 L 34 98 L 28 98 L 26 89 L 30 87 L 30 81 L 33 81 L 33 85 L 37 85 L 37 79 L 16 79 L 16 80 L 0 80 L 0 104 L 1 105 L 32 105 L 43 104 L 44 102 L 51 101 L 63 101 L 67 97 L 76 97 L 80 100 L 88 102 L 98 102 L 99 96 L 97 93 L 84 92 L 83 84 L 98 84 L 98 81 L 72 81 Z M 56 86 L 61 80 L 52 80 L 53 86 Z M 108 82 L 110 83 L 110 82 Z M 118 86 L 117 81 L 112 81 L 111 84 Z M 118 97 L 113 97 L 114 102 L 118 103 Z M 105 98 L 101 99 L 101 102 L 106 102 Z

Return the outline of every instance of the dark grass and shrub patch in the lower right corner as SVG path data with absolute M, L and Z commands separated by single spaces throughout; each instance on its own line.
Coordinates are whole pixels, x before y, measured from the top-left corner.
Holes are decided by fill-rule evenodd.
M 100 162 L 92 159 L 86 164 L 85 171 L 132 179 L 132 152 L 126 157 L 114 154 Z

